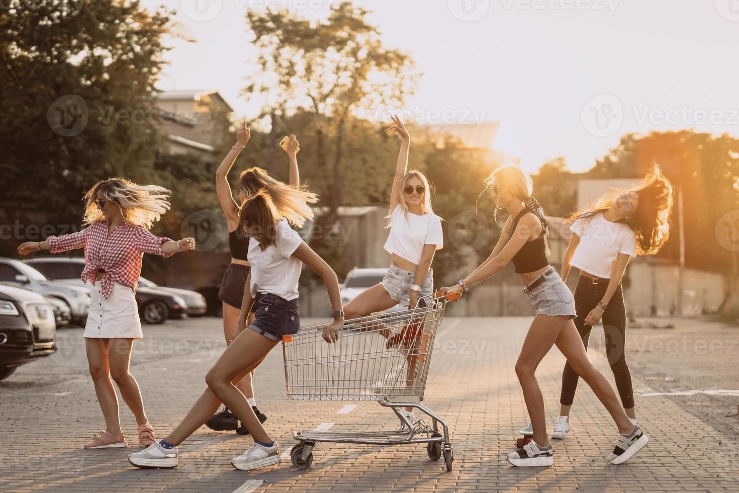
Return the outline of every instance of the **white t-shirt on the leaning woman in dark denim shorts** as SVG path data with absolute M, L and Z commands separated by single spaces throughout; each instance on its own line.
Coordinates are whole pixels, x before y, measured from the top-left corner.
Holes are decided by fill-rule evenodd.
M 302 242 L 303 239 L 285 219 L 277 223 L 274 245 L 262 250 L 256 239 L 249 239 L 247 258 L 251 264 L 251 296 L 259 292 L 276 294 L 287 300 L 298 297 L 303 262 L 292 255 Z

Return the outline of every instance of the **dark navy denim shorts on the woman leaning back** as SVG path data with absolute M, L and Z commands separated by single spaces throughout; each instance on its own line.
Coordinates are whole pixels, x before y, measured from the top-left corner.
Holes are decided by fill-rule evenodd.
M 271 293 L 256 293 L 254 297 L 254 316 L 249 328 L 267 339 L 281 341 L 285 334 L 298 333 L 300 311 L 298 300 L 281 298 Z

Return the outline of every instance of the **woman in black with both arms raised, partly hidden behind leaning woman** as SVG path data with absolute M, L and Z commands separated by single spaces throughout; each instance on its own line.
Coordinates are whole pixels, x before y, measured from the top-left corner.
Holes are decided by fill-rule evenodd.
M 223 275 L 221 289 L 218 293 L 218 297 L 222 302 L 223 334 L 227 344 L 234 337 L 236 322 L 239 319 L 241 302 L 244 297 L 244 287 L 246 285 L 246 279 L 249 276 L 249 262 L 247 259 L 248 242 L 244 238 L 243 231 L 239 228 L 239 204 L 243 203 L 247 197 L 255 194 L 256 191 L 259 191 L 260 188 L 266 188 L 273 196 L 281 199 L 279 203 L 283 207 L 287 204 L 290 212 L 285 214 L 286 211 L 282 211 L 283 215 L 289 216 L 293 220 L 293 224 L 302 226 L 307 217 L 313 217 L 310 208 L 307 208 L 306 211 L 303 204 L 306 200 L 307 202 L 315 202 L 313 199 L 316 198 L 315 196 L 310 197 L 312 194 L 307 194 L 307 191 L 301 190 L 300 188 L 297 160 L 300 145 L 295 135 L 290 135 L 290 142 L 287 144 L 287 156 L 290 159 L 290 188 L 285 186 L 284 183 L 279 183 L 271 179 L 262 170 L 255 168 L 249 169 L 244 171 L 239 179 L 239 186 L 237 187 L 239 203 L 236 203 L 233 194 L 231 194 L 231 186 L 228 184 L 228 171 L 231 171 L 236 157 L 245 148 L 250 137 L 251 131 L 246 126 L 246 123 L 244 123 L 236 132 L 236 145 L 231 148 L 231 151 L 228 152 L 216 171 L 216 192 L 226 221 L 228 222 L 228 248 L 231 250 L 231 263 Z M 259 178 L 261 176 L 256 177 L 257 174 L 263 174 L 264 179 L 260 180 Z M 287 189 L 287 200 L 283 198 L 286 195 L 285 189 Z M 300 203 L 297 208 L 292 205 L 292 201 L 289 199 L 291 194 L 294 194 L 296 190 L 302 192 L 305 195 L 302 198 L 306 199 L 300 201 L 301 197 L 297 197 Z M 256 407 L 252 381 L 253 373 L 249 373 L 242 381 L 236 384 L 236 387 L 246 396 L 259 421 L 264 423 L 267 421 L 267 416 Z M 239 421 L 228 408 L 222 409 L 208 421 L 205 421 L 205 426 L 217 431 L 235 429 L 239 435 L 248 435 L 249 433 L 244 424 L 239 424 Z

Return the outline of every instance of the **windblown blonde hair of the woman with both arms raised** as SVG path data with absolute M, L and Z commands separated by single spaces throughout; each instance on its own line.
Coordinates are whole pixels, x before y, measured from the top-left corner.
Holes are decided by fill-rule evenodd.
M 290 224 L 302 228 L 306 220 L 313 220 L 313 209 L 308 204 L 318 202 L 319 196 L 308 191 L 307 186 L 287 185 L 270 177 L 267 171 L 256 166 L 242 171 L 236 185 L 236 193 L 245 197 L 245 203 L 261 191 L 270 195 L 278 216 L 285 217 Z

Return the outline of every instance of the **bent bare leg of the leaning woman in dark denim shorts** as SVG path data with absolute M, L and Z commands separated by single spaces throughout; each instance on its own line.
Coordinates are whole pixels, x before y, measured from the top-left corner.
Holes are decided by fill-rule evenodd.
M 246 368 L 253 370 L 278 341 L 246 329 L 226 348 L 205 375 L 205 382 L 215 395 L 239 418 L 256 441 L 271 442 L 270 435 L 256 418 L 244 395 L 231 382 Z

